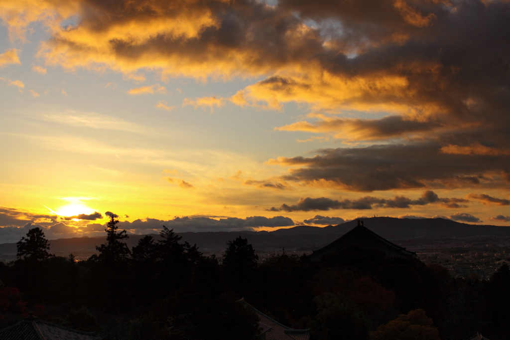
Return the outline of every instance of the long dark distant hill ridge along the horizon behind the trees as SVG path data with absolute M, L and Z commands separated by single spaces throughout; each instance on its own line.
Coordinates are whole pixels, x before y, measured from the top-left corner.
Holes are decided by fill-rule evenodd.
M 363 218 L 364 225 L 376 234 L 389 240 L 439 239 L 472 236 L 510 236 L 510 227 L 491 225 L 471 225 L 458 223 L 444 218 L 424 218 L 415 220 L 395 217 Z M 350 221 L 337 226 L 313 227 L 296 226 L 274 231 L 217 231 L 179 233 L 182 241 L 196 244 L 200 249 L 226 248 L 226 242 L 243 235 L 255 249 L 299 248 L 328 244 L 344 235 L 357 225 Z M 127 245 L 131 248 L 138 244 L 144 235 L 130 235 Z M 155 239 L 159 235 L 152 235 Z M 95 247 L 105 242 L 105 237 L 73 237 L 50 240 L 51 252 L 95 251 Z M 0 244 L 0 254 L 16 254 L 16 244 Z

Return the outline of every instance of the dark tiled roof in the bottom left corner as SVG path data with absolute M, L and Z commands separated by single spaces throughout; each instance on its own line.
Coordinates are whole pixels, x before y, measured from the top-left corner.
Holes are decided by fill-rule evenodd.
M 105 335 L 77 331 L 34 317 L 0 330 L 2 340 L 102 340 Z

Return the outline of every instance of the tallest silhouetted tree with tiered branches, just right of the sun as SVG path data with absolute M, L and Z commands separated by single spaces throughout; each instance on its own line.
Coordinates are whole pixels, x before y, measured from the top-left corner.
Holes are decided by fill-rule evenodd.
M 115 215 L 110 216 L 110 221 L 108 222 L 107 228 L 105 231 L 107 232 L 106 241 L 107 244 L 102 244 L 99 247 L 96 247 L 96 250 L 99 252 L 97 255 L 97 261 L 112 265 L 114 263 L 121 263 L 127 260 L 129 255 L 131 254 L 129 248 L 122 242 L 121 240 L 129 238 L 127 232 L 125 230 L 117 231 L 117 224 L 119 220 L 116 220 Z

